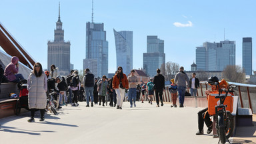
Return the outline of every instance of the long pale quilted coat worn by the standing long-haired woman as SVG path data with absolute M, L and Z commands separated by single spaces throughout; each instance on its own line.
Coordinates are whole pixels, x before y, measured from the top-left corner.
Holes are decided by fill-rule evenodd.
M 36 77 L 33 71 L 27 79 L 27 90 L 29 91 L 29 109 L 45 109 L 47 104 L 47 77 L 43 72 Z

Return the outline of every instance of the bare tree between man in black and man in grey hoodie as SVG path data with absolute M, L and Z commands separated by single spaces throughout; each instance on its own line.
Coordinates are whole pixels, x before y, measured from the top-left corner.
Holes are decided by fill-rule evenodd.
M 179 72 L 179 64 L 168 61 L 165 64 L 165 80 L 171 81 L 175 77 L 175 74 Z

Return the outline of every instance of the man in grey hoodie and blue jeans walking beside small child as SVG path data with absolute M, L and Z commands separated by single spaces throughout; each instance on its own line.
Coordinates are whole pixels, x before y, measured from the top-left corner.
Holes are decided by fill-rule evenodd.
M 184 107 L 186 85 L 189 83 L 189 77 L 187 77 L 187 73 L 184 72 L 184 67 L 179 68 L 179 72 L 175 75 L 174 82 L 177 83 L 178 86 L 179 107 Z

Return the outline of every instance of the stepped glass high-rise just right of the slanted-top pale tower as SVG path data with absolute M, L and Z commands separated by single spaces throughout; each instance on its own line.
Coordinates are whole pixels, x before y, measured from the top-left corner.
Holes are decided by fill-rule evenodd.
M 147 36 L 147 53 L 143 53 L 143 69 L 149 77 L 153 77 L 161 65 L 165 65 L 164 41 L 157 36 Z

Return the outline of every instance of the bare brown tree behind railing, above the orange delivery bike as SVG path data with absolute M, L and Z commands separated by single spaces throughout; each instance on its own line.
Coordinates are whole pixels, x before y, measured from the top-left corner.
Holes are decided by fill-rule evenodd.
M 245 82 L 245 70 L 239 65 L 227 65 L 224 69 L 223 78 L 235 83 Z

